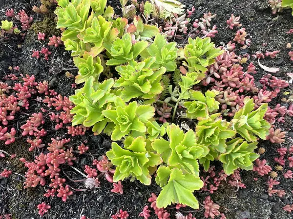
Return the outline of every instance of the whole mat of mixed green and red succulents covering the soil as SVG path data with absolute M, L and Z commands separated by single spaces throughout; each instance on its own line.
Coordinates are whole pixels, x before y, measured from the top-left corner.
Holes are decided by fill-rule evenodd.
M 13 55 L 30 48 L 22 59 L 43 73 L 3 68 L 0 182 L 41 198 L 18 212 L 8 189 L 0 218 L 60 218 L 62 202 L 80 219 L 257 218 L 212 199 L 254 188 L 280 209 L 265 217 L 292 217 L 290 41 L 250 51 L 253 37 L 230 14 L 219 42 L 215 14 L 176 0 L 30 3 L 34 13 L 5 8 L 1 20 L 0 43 Z M 290 1 L 266 6 L 293 18 Z M 284 68 L 271 64 L 280 54 Z

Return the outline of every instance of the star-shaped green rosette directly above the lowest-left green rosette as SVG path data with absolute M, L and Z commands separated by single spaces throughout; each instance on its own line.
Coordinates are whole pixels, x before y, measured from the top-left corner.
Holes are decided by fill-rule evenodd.
M 138 106 L 136 101 L 126 105 L 120 98 L 116 97 L 115 110 L 103 110 L 103 115 L 115 124 L 111 139 L 118 141 L 131 132 L 146 132 L 146 123 L 153 117 L 155 108 L 150 105 Z

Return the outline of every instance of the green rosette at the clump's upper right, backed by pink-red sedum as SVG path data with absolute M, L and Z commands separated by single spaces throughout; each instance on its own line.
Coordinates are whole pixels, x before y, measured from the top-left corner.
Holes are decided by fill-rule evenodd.
M 184 47 L 182 58 L 186 62 L 183 65 L 188 67 L 189 72 L 205 73 L 207 67 L 215 62 L 215 57 L 224 53 L 220 48 L 215 48 L 214 43 L 210 42 L 210 38 L 201 39 L 188 38 L 188 45 Z

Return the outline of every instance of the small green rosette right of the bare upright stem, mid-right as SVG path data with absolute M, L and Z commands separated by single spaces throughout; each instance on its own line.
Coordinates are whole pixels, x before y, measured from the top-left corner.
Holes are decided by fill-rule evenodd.
M 184 106 L 186 107 L 186 116 L 190 119 L 196 119 L 198 117 L 208 117 L 209 113 L 219 110 L 219 102 L 215 100 L 215 96 L 219 91 L 212 90 L 207 91 L 205 95 L 201 91 L 190 90 L 190 100 L 186 101 Z

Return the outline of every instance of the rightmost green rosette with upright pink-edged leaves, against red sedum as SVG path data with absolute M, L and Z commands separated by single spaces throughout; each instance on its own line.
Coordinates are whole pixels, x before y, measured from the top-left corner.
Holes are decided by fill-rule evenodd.
M 244 103 L 243 108 L 235 113 L 231 121 L 231 128 L 248 142 L 257 141 L 256 136 L 266 140 L 271 128 L 270 123 L 264 119 L 268 104 L 262 104 L 257 110 L 254 110 L 253 99 L 245 98 Z

